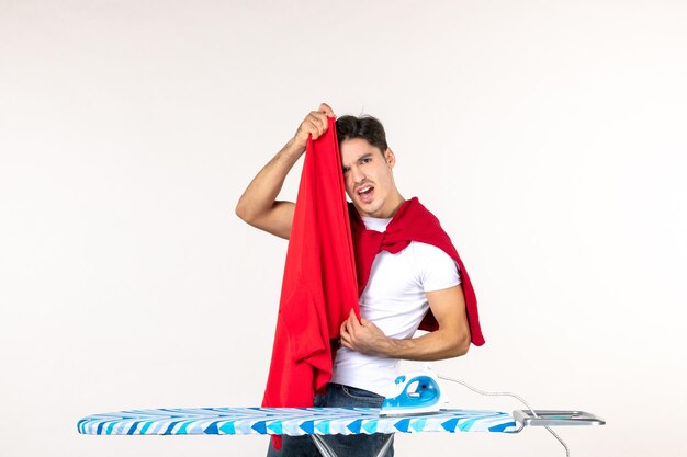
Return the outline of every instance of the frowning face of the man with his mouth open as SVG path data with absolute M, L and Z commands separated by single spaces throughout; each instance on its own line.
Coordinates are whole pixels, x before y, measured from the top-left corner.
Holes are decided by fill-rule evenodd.
M 351 138 L 339 145 L 346 193 L 361 216 L 392 217 L 401 195 L 392 169 L 395 157 L 391 149 L 382 151 L 363 138 Z

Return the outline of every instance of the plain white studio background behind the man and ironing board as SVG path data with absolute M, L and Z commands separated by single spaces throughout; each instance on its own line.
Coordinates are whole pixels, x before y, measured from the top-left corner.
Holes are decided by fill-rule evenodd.
M 384 123 L 471 273 L 487 343 L 439 373 L 605 418 L 559 429 L 574 456 L 685 455 L 686 24 L 684 1 L 1 0 L 0 455 L 264 454 L 76 423 L 259 404 L 286 242 L 234 207 L 320 102 Z M 565 454 L 530 429 L 396 455 Z

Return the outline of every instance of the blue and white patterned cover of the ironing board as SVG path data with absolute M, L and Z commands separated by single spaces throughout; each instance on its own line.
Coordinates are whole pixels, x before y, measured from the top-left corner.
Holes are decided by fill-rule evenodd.
M 88 435 L 353 435 L 418 432 L 514 432 L 511 414 L 443 410 L 382 418 L 378 408 L 199 408 L 93 414 L 78 422 Z

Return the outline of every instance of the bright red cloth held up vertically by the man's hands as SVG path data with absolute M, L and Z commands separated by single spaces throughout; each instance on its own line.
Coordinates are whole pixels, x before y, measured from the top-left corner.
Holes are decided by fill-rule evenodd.
M 327 119 L 307 139 L 262 407 L 312 407 L 331 379 L 330 340 L 351 309 L 360 318 L 336 119 Z

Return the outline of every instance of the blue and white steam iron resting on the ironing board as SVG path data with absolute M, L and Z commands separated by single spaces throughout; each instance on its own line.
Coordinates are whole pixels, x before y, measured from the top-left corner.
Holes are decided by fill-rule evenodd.
M 394 392 L 384 399 L 380 415 L 435 413 L 448 403 L 439 387 L 439 378 L 428 367 L 398 376 L 394 382 Z

